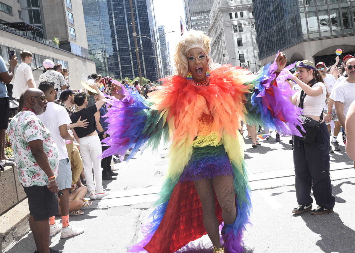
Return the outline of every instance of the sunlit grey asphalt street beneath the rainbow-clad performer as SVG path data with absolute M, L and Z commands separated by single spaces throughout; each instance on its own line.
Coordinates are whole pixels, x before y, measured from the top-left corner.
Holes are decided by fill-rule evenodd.
M 291 213 L 297 202 L 289 139 L 281 137 L 281 142 L 275 142 L 272 133 L 270 140 L 260 140 L 261 145 L 256 148 L 251 147 L 251 140 L 244 139 L 252 189 L 251 224 L 244 233 L 245 252 L 355 252 L 352 212 L 355 171 L 343 142 L 339 139 L 342 150 L 331 154 L 334 212 L 313 216 L 310 212 Z M 84 227 L 85 232 L 68 239 L 60 239 L 60 234 L 51 237 L 50 247 L 62 249 L 64 253 L 123 253 L 140 241 L 141 225 L 150 220 L 152 204 L 164 178 L 168 158 L 162 157 L 166 153 L 163 146 L 156 153 L 148 148 L 128 163 L 115 163 L 114 167 L 119 168 L 118 179 L 104 181 L 104 188 L 110 194 L 82 209 L 84 215 L 69 217 L 71 224 Z M 315 203 L 313 206 L 316 208 Z M 7 252 L 33 253 L 34 250 L 29 232 Z M 179 252 L 212 253 L 211 242 L 208 236 L 203 236 Z

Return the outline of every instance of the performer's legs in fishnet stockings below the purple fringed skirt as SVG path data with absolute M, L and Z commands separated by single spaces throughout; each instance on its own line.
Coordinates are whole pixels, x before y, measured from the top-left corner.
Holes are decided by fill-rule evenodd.
M 224 225 L 232 224 L 236 217 L 234 200 L 233 176 L 217 176 L 215 178 L 205 178 L 193 182 L 200 197 L 202 205 L 203 225 L 208 237 L 217 248 L 221 248 L 219 240 L 219 223 L 215 215 L 214 190 L 218 203 L 222 208 L 222 219 Z

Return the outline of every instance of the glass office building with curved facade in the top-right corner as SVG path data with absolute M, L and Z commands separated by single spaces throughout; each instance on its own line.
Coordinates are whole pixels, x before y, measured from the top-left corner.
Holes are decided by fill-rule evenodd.
M 302 41 L 354 34 L 355 1 L 253 0 L 253 8 L 261 59 Z

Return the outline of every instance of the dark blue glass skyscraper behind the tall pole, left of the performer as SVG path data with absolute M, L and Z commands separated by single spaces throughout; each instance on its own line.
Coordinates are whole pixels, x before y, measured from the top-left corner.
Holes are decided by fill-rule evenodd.
M 115 79 L 138 77 L 129 0 L 83 0 L 90 59 L 99 74 Z M 159 79 L 155 47 L 158 39 L 153 0 L 133 0 L 142 76 Z M 138 37 L 138 36 L 146 36 Z M 151 38 L 151 39 L 149 39 Z M 159 43 L 157 45 L 160 50 Z M 160 52 L 158 52 L 160 57 Z

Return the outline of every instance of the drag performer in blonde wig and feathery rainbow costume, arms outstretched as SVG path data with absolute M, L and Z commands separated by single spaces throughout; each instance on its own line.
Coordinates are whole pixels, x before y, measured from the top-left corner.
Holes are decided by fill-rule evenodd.
M 182 36 L 174 54 L 175 74 L 150 99 L 120 87 L 125 97 L 107 100 L 111 137 L 105 139 L 110 148 L 103 156 L 119 154 L 122 161 L 132 149 L 129 160 L 138 149 L 171 141 L 153 221 L 130 252 L 173 253 L 206 233 L 214 252 L 242 252 L 251 201 L 241 120 L 298 134 L 300 113 L 289 100 L 286 57 L 278 54 L 274 64 L 251 75 L 240 67 L 213 65 L 210 41 L 201 31 Z

